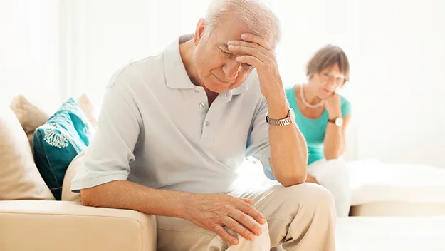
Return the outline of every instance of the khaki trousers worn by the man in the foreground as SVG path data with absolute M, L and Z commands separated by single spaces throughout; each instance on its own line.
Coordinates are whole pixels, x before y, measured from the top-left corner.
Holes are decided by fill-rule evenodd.
M 275 183 L 263 190 L 229 194 L 253 200 L 266 217 L 261 236 L 249 241 L 226 228 L 239 238 L 238 245 L 229 245 L 188 220 L 157 216 L 157 250 L 268 251 L 281 244 L 285 250 L 335 250 L 334 198 L 322 186 L 303 183 L 285 188 Z

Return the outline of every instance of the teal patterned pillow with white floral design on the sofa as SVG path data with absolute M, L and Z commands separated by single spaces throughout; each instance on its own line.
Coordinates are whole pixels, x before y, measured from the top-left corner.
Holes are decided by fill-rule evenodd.
M 71 160 L 90 144 L 91 129 L 78 103 L 70 98 L 34 132 L 34 160 L 56 200 L 61 200 Z

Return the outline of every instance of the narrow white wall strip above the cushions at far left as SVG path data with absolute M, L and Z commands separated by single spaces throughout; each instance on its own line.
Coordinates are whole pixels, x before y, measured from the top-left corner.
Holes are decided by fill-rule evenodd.
M 58 2 L 0 1 L 0 105 L 18 93 L 49 110 L 60 102 Z

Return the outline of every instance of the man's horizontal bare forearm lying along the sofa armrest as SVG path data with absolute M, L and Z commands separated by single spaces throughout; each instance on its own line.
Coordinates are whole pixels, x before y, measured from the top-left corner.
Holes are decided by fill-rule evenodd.
M 82 205 L 170 217 L 184 217 L 184 203 L 189 196 L 192 194 L 148 188 L 127 180 L 115 180 L 81 191 Z

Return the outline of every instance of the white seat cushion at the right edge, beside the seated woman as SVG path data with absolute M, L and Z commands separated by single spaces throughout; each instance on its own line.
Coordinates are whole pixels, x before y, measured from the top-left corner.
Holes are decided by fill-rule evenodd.
M 378 160 L 347 163 L 352 205 L 375 202 L 445 203 L 445 169 L 389 165 Z

